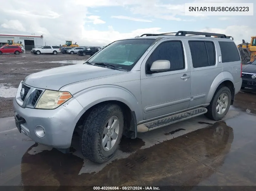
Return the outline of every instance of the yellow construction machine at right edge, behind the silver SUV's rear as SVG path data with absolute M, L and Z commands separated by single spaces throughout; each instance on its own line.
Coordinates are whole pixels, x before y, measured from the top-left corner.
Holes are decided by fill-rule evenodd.
M 256 36 L 251 37 L 251 43 L 246 43 L 243 40 L 237 47 L 241 55 L 242 64 L 248 64 L 247 62 L 256 60 Z

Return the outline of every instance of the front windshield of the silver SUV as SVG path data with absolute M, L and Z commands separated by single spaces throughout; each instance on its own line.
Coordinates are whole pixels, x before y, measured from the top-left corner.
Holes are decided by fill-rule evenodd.
M 155 39 L 119 40 L 91 57 L 88 62 L 106 63 L 116 68 L 131 70 Z

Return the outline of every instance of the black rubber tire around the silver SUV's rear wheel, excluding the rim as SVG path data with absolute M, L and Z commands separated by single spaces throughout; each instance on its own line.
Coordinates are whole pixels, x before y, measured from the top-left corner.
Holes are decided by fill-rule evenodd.
M 228 96 L 228 104 L 227 104 L 227 107 L 226 107 L 226 110 L 224 111 L 224 113 L 222 114 L 218 114 L 217 113 L 217 110 L 216 110 L 216 106 L 217 106 L 217 100 L 218 98 L 220 97 L 221 94 L 227 94 Z M 229 107 L 230 107 L 230 104 L 231 104 L 231 91 L 228 87 L 220 87 L 218 88 L 214 95 L 213 95 L 213 98 L 211 100 L 211 103 L 210 105 L 207 107 L 207 113 L 205 113 L 204 115 L 206 117 L 208 117 L 209 119 L 212 119 L 214 121 L 218 121 L 218 120 L 221 120 L 228 112 L 229 110 Z

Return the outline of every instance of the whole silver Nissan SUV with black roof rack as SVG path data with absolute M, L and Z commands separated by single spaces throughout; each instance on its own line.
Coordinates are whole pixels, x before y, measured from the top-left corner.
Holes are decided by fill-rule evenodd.
M 104 163 L 122 135 L 202 114 L 222 119 L 241 83 L 241 58 L 226 35 L 145 34 L 115 41 L 84 64 L 28 75 L 13 100 L 15 121 L 19 132 L 62 152 L 77 132 L 82 154 Z

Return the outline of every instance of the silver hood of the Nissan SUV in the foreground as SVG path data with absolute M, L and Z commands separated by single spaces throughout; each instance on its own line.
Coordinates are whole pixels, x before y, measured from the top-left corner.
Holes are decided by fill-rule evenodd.
M 35 88 L 59 90 L 67 84 L 121 73 L 124 71 L 87 64 L 75 64 L 33 73 L 25 77 L 23 81 Z

